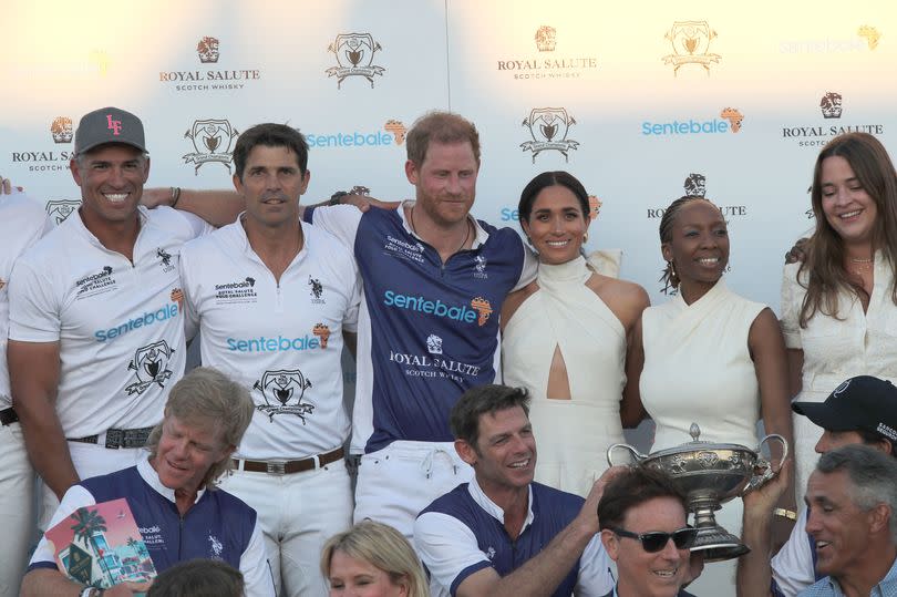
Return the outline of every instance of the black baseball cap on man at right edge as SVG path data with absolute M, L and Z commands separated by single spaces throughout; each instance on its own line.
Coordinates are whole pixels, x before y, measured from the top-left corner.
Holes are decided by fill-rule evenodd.
M 897 388 L 872 375 L 850 378 L 825 402 L 794 402 L 792 410 L 829 431 L 870 431 L 897 443 Z

